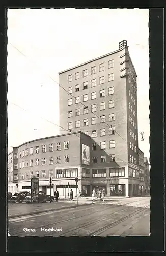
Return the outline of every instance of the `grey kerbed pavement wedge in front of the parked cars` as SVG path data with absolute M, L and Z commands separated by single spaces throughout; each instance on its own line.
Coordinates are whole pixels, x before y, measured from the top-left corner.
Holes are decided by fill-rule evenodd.
M 8 218 L 15 218 L 24 215 L 39 214 L 46 211 L 62 210 L 65 208 L 75 208 L 91 204 L 91 202 L 78 202 L 76 201 L 59 201 L 58 203 L 46 202 L 38 204 L 8 204 Z

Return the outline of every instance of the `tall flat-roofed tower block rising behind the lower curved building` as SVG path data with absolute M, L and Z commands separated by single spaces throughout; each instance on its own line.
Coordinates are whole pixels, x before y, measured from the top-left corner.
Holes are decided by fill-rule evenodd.
M 123 177 L 113 169 L 110 195 L 125 190 L 132 196 L 133 186 L 139 193 L 136 77 L 125 40 L 114 52 L 59 72 L 60 126 L 88 134 L 106 155 L 105 164 L 114 168 L 116 161 L 125 169 Z

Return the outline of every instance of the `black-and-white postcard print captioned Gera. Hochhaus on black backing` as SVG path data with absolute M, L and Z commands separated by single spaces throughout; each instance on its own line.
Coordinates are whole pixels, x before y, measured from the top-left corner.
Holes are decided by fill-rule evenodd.
M 7 37 L 8 236 L 150 236 L 149 9 L 9 8 Z

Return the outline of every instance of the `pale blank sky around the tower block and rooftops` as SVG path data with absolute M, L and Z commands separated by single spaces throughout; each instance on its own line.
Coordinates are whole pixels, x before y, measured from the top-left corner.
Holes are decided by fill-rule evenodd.
M 8 9 L 7 15 L 8 152 L 59 134 L 58 72 L 127 40 L 137 73 L 139 148 L 149 159 L 149 10 Z

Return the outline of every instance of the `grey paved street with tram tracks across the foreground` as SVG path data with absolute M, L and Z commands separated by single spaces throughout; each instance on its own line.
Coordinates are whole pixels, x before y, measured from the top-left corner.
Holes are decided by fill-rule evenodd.
M 79 200 L 79 204 L 82 205 L 75 208 L 69 206 L 74 206 L 76 202 L 9 204 L 9 233 L 11 236 L 149 235 L 150 197 L 107 199 L 105 204 L 90 204 L 91 201 L 86 200 L 84 199 L 84 204 L 83 200 Z M 26 209 L 25 215 L 12 218 L 18 209 L 19 212 L 23 211 L 23 207 Z M 39 213 L 43 207 L 45 212 Z M 52 211 L 48 211 L 50 207 Z M 27 212 L 30 214 L 29 209 L 36 213 L 26 215 Z M 31 231 L 23 231 L 23 228 Z

